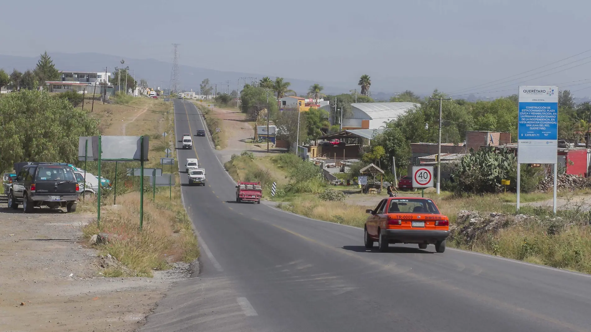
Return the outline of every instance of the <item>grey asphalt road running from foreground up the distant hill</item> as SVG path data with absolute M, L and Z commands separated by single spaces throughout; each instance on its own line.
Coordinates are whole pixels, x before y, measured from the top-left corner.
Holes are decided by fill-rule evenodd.
M 174 106 L 178 138 L 204 128 Z M 178 155 L 206 168 L 204 187 L 182 187 L 202 269 L 142 331 L 591 331 L 590 276 L 432 245 L 368 251 L 361 229 L 235 203 L 209 136 L 193 140 Z

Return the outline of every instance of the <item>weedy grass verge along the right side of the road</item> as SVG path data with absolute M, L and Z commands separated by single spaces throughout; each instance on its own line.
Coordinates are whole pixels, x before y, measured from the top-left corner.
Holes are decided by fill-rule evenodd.
M 363 227 L 367 214 L 362 206 L 347 203 L 342 197 L 323 200 L 327 192 L 324 181 L 317 181 L 303 162 L 293 154 L 255 158 L 249 152 L 232 156 L 226 170 L 236 181 L 261 181 L 264 197 L 271 197 L 270 185 L 277 182 L 277 207 L 313 219 Z M 306 175 L 309 174 L 309 175 Z M 314 173 L 313 173 L 314 174 Z M 582 191 L 581 193 L 587 193 Z M 416 193 L 402 193 L 402 195 Z M 561 197 L 577 196 L 559 193 Z M 363 195 L 368 196 L 368 195 Z M 355 197 L 355 196 L 352 196 Z M 375 196 L 374 196 L 375 197 Z M 441 213 L 450 217 L 453 236 L 449 245 L 506 258 L 538 263 L 556 268 L 591 273 L 591 214 L 582 203 L 572 210 L 558 211 L 524 205 L 521 214 L 515 213 L 515 194 L 485 194 L 465 197 L 453 193 L 426 193 L 439 206 Z M 548 193 L 521 195 L 523 203 L 546 200 Z M 379 201 L 379 197 L 376 197 Z M 577 205 L 578 204 L 578 205 Z M 475 211 L 473 219 L 458 219 L 462 211 Z M 466 227 L 466 225 L 473 227 Z

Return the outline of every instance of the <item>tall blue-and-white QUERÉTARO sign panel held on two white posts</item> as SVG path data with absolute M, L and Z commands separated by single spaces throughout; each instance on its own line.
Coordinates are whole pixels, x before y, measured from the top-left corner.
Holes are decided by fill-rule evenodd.
M 558 87 L 520 86 L 517 131 L 519 164 L 556 164 Z

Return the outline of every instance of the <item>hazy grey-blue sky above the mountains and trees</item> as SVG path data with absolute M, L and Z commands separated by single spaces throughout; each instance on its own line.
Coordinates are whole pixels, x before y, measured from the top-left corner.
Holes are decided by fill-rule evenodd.
M 584 0 L 1 2 L 0 54 L 96 52 L 171 61 L 170 44 L 180 43 L 181 64 L 350 82 L 350 89 L 369 74 L 374 92 L 453 92 L 591 49 L 591 1 Z M 587 61 L 522 84 L 576 84 L 565 82 L 588 78 Z M 569 69 L 576 64 L 583 65 Z M 503 90 L 517 91 L 523 80 L 466 92 L 509 95 Z M 567 89 L 589 87 L 575 95 L 591 95 L 589 82 Z

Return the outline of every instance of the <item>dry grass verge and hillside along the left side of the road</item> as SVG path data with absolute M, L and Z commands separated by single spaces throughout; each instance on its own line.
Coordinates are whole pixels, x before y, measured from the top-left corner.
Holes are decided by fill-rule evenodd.
M 145 167 L 162 167 L 160 157 L 164 157 L 164 149 L 170 148 L 173 154 L 176 151 L 174 149 L 176 146 L 174 115 L 170 112 L 172 103 L 138 97 L 132 98 L 131 102 L 126 104 L 134 107 L 102 106 L 102 103 L 97 107 L 95 101 L 96 116 L 101 119 L 100 123 L 105 128 L 102 134 L 122 135 L 122 127 L 126 123 L 126 135 L 149 135 L 150 161 L 145 163 Z M 135 121 L 131 122 L 132 118 L 136 118 Z M 163 132 L 168 133 L 166 138 L 161 136 Z M 108 167 L 111 166 L 108 165 Z M 139 167 L 139 162 L 121 163 L 119 167 L 121 172 L 126 167 Z M 168 167 L 164 167 L 163 172 L 168 172 Z M 178 168 L 175 165 L 172 169 Z M 158 187 L 155 201 L 152 201 L 152 190 L 148 188 L 148 184 L 144 184 L 144 222 L 141 232 L 139 231 L 139 186 L 134 185 L 134 189 L 124 189 L 122 180 L 125 180 L 125 177 L 119 178 L 116 207 L 112 205 L 113 191 L 103 190 L 100 224 L 95 220 L 85 226 L 83 233 L 86 238 L 99 232 L 112 235 L 113 240 L 106 245 L 98 245 L 98 249 L 105 255 L 110 253 L 125 266 L 125 269 L 117 267 L 104 269 L 101 272 L 102 275 L 151 276 L 151 271 L 166 269 L 171 262 L 193 261 L 199 256 L 197 238 L 181 202 L 178 172 L 175 173 L 175 177 L 176 186 L 171 190 L 171 198 L 169 198 L 168 187 Z M 78 210 L 96 213 L 96 197 L 86 197 L 86 200 L 79 204 Z

